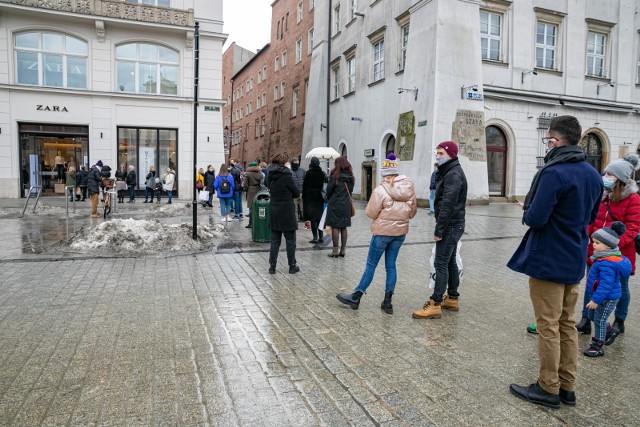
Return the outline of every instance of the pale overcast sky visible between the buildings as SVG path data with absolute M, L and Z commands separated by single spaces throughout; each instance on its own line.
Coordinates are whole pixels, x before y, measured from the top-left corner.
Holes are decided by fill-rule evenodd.
M 269 43 L 273 0 L 224 0 L 224 50 L 233 42 L 255 52 Z

